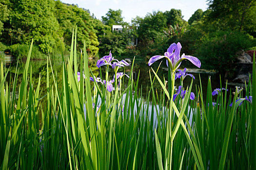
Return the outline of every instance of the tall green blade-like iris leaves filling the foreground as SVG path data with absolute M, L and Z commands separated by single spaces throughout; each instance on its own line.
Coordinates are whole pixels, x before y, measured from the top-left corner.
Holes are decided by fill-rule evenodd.
M 253 107 L 249 102 L 236 102 L 252 95 L 256 86 L 251 82 L 245 94 L 236 90 L 233 95 L 229 90 L 212 97 L 209 78 L 207 94 L 196 85 L 193 101 L 189 100 L 191 82 L 184 99 L 178 96 L 173 102 L 175 82 L 165 83 L 158 70 L 152 69 L 151 86 L 143 98 L 141 89 L 145 87 L 138 86 L 139 73 L 137 81 L 133 79 L 134 60 L 130 78 L 122 78 L 119 90 L 116 84 L 109 92 L 105 85 L 90 82 L 85 46 L 77 56 L 74 35 L 67 63 L 62 55 L 61 75 L 48 56 L 47 94 L 41 94 L 41 76 L 37 85 L 33 80 L 33 40 L 21 84 L 17 84 L 19 70 L 7 81 L 11 73 L 1 64 L 1 169 L 253 169 Z M 79 82 L 77 71 L 85 77 Z M 253 75 L 255 78 L 255 69 Z M 110 79 L 108 71 L 102 75 L 100 70 L 100 76 Z M 154 89 L 155 83 L 162 89 Z M 12 95 L 16 91 L 18 99 Z M 47 102 L 41 102 L 43 99 Z

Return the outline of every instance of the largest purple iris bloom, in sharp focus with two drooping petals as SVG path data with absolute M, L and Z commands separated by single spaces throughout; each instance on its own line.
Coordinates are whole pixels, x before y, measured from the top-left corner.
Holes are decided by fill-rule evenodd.
M 164 55 L 155 55 L 151 57 L 148 61 L 148 65 L 151 66 L 157 60 L 160 60 L 161 58 L 165 57 L 167 59 L 166 65 L 168 66 L 169 64 L 171 64 L 170 67 L 173 71 L 175 71 L 180 66 L 181 61 L 184 59 L 188 59 L 192 64 L 194 64 L 198 68 L 201 67 L 201 62 L 198 60 L 197 57 L 185 55 L 184 53 L 180 57 L 180 49 L 181 45 L 179 42 L 177 44 L 173 43 L 170 45 L 170 47 L 167 49 Z

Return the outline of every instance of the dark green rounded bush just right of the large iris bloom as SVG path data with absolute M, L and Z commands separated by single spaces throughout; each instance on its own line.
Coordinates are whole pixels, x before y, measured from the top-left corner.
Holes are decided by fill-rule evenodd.
M 203 36 L 195 44 L 202 66 L 217 69 L 220 73 L 234 70 L 238 51 L 255 45 L 255 39 L 242 32 L 217 31 Z

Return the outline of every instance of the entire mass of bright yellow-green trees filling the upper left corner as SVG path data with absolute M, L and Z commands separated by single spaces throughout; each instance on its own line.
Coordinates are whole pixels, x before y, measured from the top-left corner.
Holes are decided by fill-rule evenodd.
M 85 40 L 89 55 L 98 53 L 96 19 L 84 9 L 59 0 L 4 0 L 0 8 L 0 41 L 9 46 L 29 44 L 34 38 L 35 45 L 44 53 L 60 49 L 60 43 L 65 51 L 72 29 L 78 25 L 78 47 L 81 48 Z

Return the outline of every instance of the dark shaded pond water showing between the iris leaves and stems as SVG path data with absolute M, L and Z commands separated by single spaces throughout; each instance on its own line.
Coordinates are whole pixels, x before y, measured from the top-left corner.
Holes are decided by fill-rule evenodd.
M 21 82 L 21 78 L 22 78 L 22 73 L 23 73 L 23 67 L 25 65 L 25 61 L 19 61 L 17 64 L 17 60 L 15 58 L 4 58 L 1 59 L 0 62 L 3 62 L 5 69 L 10 68 L 10 73 L 7 77 L 7 80 L 9 81 L 10 78 L 14 78 L 14 74 L 16 71 L 16 67 L 19 70 L 19 76 L 18 76 L 18 84 Z M 188 61 L 186 61 L 188 62 Z M 42 93 L 41 96 L 44 96 L 44 94 L 46 94 L 46 67 L 47 67 L 47 60 L 31 60 L 30 64 L 32 66 L 32 71 L 33 71 L 33 81 L 34 84 L 37 85 L 38 79 L 39 79 L 39 74 L 41 75 L 41 88 L 42 88 Z M 52 61 L 53 64 L 53 61 Z M 91 61 L 90 64 L 95 64 L 95 61 Z M 158 68 L 158 65 L 160 64 L 160 62 L 156 62 L 152 65 L 152 68 L 156 71 Z M 60 57 L 57 58 L 55 60 L 55 68 L 57 70 L 57 75 L 58 75 L 58 81 L 61 82 L 62 79 L 62 62 Z M 94 70 L 94 74 L 98 74 L 99 70 L 96 66 L 90 66 L 90 68 L 92 70 Z M 182 69 L 182 68 L 180 68 Z M 142 87 L 142 95 L 145 97 L 149 87 L 151 85 L 150 83 L 150 78 L 149 78 L 149 70 L 151 70 L 151 67 L 148 66 L 148 63 L 146 60 L 144 59 L 136 59 L 135 60 L 135 65 L 134 65 L 134 70 L 133 70 L 133 76 L 134 76 L 134 80 L 137 81 L 138 78 L 138 72 L 139 72 L 139 88 Z M 125 69 L 120 68 L 119 71 L 125 71 L 126 74 L 130 74 L 131 71 L 131 66 L 126 67 Z M 104 74 L 104 70 L 102 69 L 102 72 Z M 208 77 L 211 76 L 211 84 L 212 84 L 212 90 L 215 88 L 219 88 L 220 87 L 220 76 L 219 74 L 215 73 L 212 70 L 205 70 L 205 69 L 198 69 L 195 66 L 191 66 L 191 68 L 187 69 L 187 72 L 189 72 L 190 74 L 193 74 L 195 76 L 195 80 L 193 81 L 193 88 L 192 91 L 196 92 L 196 87 L 198 88 L 200 83 L 199 83 L 199 74 L 200 74 L 200 78 L 201 78 L 201 83 L 202 83 L 202 88 L 203 88 L 203 93 L 206 94 L 206 90 L 207 90 L 207 82 L 208 82 Z M 112 78 L 112 76 L 114 75 L 114 72 L 111 70 L 110 71 L 110 77 Z M 50 73 L 50 79 L 52 77 L 52 74 Z M 154 78 L 154 73 L 151 70 L 151 76 L 152 78 Z M 167 76 L 168 76 L 168 69 L 167 66 L 165 64 L 165 62 L 163 62 L 158 70 L 158 76 L 163 80 L 163 77 L 165 77 L 165 80 L 167 80 Z M 191 77 L 187 76 L 183 82 L 183 86 L 187 87 L 187 85 L 190 85 L 191 83 Z M 225 82 L 222 79 L 222 86 L 225 86 Z M 179 85 L 179 80 L 176 81 L 176 86 Z M 234 88 L 235 85 L 229 85 L 228 84 L 228 88 Z M 159 84 L 158 80 L 156 79 L 154 82 L 154 88 L 157 89 L 161 89 L 161 85 Z

